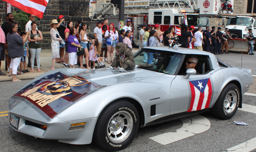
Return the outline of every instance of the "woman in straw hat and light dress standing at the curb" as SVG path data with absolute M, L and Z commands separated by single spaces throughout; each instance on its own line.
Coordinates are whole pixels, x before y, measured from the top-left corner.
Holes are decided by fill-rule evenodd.
M 52 67 L 51 70 L 55 70 L 55 58 L 59 58 L 59 42 L 62 40 L 62 38 L 59 36 L 59 32 L 57 30 L 57 27 L 59 26 L 59 23 L 57 19 L 53 19 L 51 25 L 51 38 L 52 38 Z

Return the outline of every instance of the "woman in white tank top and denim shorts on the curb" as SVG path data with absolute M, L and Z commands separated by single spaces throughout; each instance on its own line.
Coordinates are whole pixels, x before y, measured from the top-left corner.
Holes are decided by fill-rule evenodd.
M 86 69 L 90 69 L 90 67 L 89 67 L 89 52 L 88 52 L 88 48 L 87 48 L 88 38 L 86 35 L 86 29 L 87 29 L 87 25 L 85 23 L 81 23 L 80 27 L 79 27 L 79 30 L 80 30 L 79 38 L 80 38 L 80 45 L 81 45 L 81 47 L 84 48 L 84 54 L 86 55 L 86 66 L 87 66 Z M 80 68 L 85 68 L 82 66 L 82 56 L 83 55 L 79 56 Z

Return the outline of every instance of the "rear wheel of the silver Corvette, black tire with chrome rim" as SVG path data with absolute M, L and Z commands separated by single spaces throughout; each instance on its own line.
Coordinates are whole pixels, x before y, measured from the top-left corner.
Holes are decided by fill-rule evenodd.
M 215 105 L 211 108 L 212 115 L 224 120 L 232 118 L 238 110 L 240 96 L 241 94 L 236 84 L 227 84 Z

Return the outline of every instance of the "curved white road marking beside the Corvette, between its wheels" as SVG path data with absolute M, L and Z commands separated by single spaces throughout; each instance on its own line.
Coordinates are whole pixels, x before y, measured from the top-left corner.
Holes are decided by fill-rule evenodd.
M 183 122 L 183 126 L 177 129 L 176 133 L 164 133 L 150 137 L 150 139 L 166 145 L 190 136 L 194 136 L 195 134 L 203 133 L 210 128 L 210 121 L 201 115 L 186 117 L 180 120 Z

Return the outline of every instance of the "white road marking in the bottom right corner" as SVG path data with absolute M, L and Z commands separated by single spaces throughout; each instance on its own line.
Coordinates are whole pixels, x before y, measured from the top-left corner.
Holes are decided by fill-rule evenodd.
M 252 138 L 244 143 L 228 148 L 226 151 L 247 152 L 256 148 L 256 138 Z

